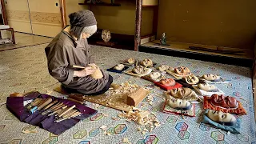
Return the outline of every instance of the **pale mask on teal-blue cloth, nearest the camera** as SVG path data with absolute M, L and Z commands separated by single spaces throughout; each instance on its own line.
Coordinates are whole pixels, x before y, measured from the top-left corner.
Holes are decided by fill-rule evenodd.
M 226 126 L 233 126 L 237 122 L 237 118 L 229 113 L 223 113 L 222 111 L 208 110 L 208 118 L 214 122 L 221 123 Z

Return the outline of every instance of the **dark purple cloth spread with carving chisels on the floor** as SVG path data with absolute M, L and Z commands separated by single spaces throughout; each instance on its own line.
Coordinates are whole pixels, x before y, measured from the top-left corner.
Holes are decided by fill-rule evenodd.
M 23 97 L 7 97 L 6 107 L 20 121 L 39 126 L 53 134 L 62 134 L 97 110 L 66 99 L 35 91 Z

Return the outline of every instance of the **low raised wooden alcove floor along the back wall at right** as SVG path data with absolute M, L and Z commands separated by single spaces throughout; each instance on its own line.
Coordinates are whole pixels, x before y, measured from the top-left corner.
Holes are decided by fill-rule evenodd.
M 159 48 L 159 49 L 165 49 L 165 50 L 176 50 L 176 51 L 183 51 L 183 52 L 190 52 L 194 54 L 211 54 L 211 55 L 218 55 L 218 56 L 226 56 L 226 57 L 231 57 L 231 58 L 245 58 L 245 59 L 254 59 L 254 51 L 253 50 L 248 50 L 248 49 L 238 49 L 238 48 L 229 48 L 229 47 L 224 47 L 224 50 L 237 50 L 241 51 L 243 50 L 244 53 L 241 53 L 241 55 L 237 54 L 221 54 L 221 53 L 215 53 L 215 52 L 209 52 L 209 51 L 202 51 L 202 50 L 190 50 L 189 46 L 200 46 L 200 47 L 205 47 L 209 49 L 216 50 L 217 46 L 206 46 L 206 45 L 200 45 L 200 44 L 192 44 L 192 43 L 184 43 L 184 42 L 166 42 L 170 46 L 160 46 L 159 40 L 155 40 L 152 42 L 147 42 L 145 44 L 142 44 L 142 46 L 147 46 L 147 47 L 154 47 L 154 48 Z M 239 53 L 238 53 L 239 54 Z

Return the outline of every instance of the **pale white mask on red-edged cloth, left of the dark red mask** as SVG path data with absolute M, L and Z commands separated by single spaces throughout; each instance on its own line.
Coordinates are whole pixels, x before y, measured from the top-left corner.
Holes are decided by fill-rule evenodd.
M 167 101 L 168 106 L 177 110 L 190 110 L 192 105 L 190 102 L 178 98 L 170 97 Z

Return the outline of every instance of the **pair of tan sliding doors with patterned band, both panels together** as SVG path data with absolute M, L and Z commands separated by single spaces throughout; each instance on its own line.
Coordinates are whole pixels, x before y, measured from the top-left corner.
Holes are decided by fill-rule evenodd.
M 65 26 L 63 0 L 4 0 L 8 24 L 15 31 L 56 36 Z

